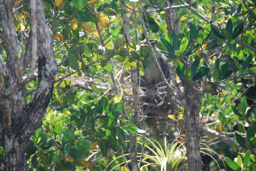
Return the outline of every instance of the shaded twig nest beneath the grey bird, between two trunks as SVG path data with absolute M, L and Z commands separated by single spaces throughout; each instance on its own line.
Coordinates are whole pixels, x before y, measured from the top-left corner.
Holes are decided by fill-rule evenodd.
M 176 123 L 168 115 L 180 109 L 180 102 L 167 92 L 163 82 L 150 89 L 141 89 L 140 102 L 147 124 L 154 128 L 154 133 L 170 133 L 170 127 L 175 127 Z

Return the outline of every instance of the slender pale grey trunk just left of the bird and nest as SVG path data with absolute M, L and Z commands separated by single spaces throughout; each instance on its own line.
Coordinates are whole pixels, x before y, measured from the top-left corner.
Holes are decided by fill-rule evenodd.
M 122 9 L 126 9 L 124 5 L 125 2 L 121 1 L 120 7 Z M 122 14 L 123 19 L 123 26 L 124 26 L 124 37 L 126 41 L 126 46 L 128 47 L 129 44 L 132 42 L 131 31 L 129 27 L 129 20 L 127 18 L 127 14 Z M 139 97 L 139 87 L 137 81 L 137 71 L 135 67 L 131 69 L 131 76 L 132 76 L 132 90 L 133 90 L 133 109 L 134 112 L 132 113 L 132 122 L 137 124 L 140 118 L 140 97 Z M 137 159 L 137 135 L 136 133 L 130 134 L 130 159 L 132 165 L 132 171 L 139 171 L 138 159 Z

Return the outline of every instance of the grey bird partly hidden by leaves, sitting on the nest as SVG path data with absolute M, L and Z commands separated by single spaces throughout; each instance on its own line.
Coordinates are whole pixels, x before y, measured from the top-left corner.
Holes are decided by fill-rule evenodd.
M 153 49 L 156 50 L 157 48 L 155 47 L 155 43 L 157 42 L 157 40 L 156 39 L 149 39 L 149 41 L 150 41 L 150 44 L 152 45 Z M 141 47 L 147 46 L 147 41 L 146 40 L 140 41 L 140 46 Z M 161 70 L 163 71 L 163 74 L 164 74 L 165 78 L 167 80 L 169 80 L 171 78 L 170 66 L 168 64 L 164 64 L 163 58 L 161 58 L 158 54 L 156 55 L 157 62 L 159 64 Z M 152 55 L 147 59 L 154 63 Z M 143 67 L 145 69 L 145 75 L 144 76 L 140 75 L 139 71 L 137 70 L 138 83 L 139 83 L 141 88 L 154 89 L 154 88 L 157 87 L 157 85 L 160 82 L 163 82 L 163 80 L 160 76 L 160 73 L 159 73 L 159 71 L 157 70 L 156 67 L 154 67 L 153 69 L 147 68 L 144 65 L 143 65 Z

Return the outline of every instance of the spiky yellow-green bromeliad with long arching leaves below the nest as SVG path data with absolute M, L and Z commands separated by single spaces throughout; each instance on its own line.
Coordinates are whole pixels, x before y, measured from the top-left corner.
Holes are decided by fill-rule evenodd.
M 141 136 L 142 135 L 138 135 Z M 143 153 L 142 156 L 142 163 L 145 163 L 145 165 L 140 167 L 141 171 L 148 170 L 148 167 L 153 167 L 156 171 L 182 171 L 186 169 L 187 167 L 187 158 L 186 158 L 186 147 L 185 147 L 185 141 L 183 140 L 182 136 L 179 136 L 175 138 L 171 144 L 168 144 L 166 141 L 166 137 L 164 139 L 164 148 L 160 145 L 158 141 L 155 139 L 149 139 L 146 138 L 145 147 L 153 153 L 153 155 L 145 154 Z M 130 141 L 126 141 L 130 142 Z M 206 142 L 206 141 L 204 141 Z M 219 169 L 220 166 L 216 159 L 212 157 L 212 153 L 218 155 L 216 152 L 212 151 L 207 144 L 209 143 L 200 143 L 200 145 L 205 146 L 206 148 L 202 147 L 200 148 L 201 153 L 210 156 L 218 165 Z M 141 142 L 137 142 L 140 145 L 143 145 Z M 207 152 L 205 152 L 207 151 Z M 211 153 L 211 154 L 209 154 Z M 108 169 L 108 167 L 111 165 L 112 162 L 115 160 L 122 158 L 124 156 L 128 156 L 129 154 L 124 154 L 122 156 L 117 157 L 116 159 L 112 160 L 108 166 L 105 168 L 105 170 Z M 218 155 L 219 156 L 219 155 Z M 220 157 L 220 156 L 219 156 Z M 141 153 L 137 153 L 137 158 L 141 158 Z M 222 160 L 222 159 L 221 159 Z M 139 160 L 138 160 L 139 161 Z M 119 163 L 118 165 L 111 168 L 110 171 L 114 170 L 117 167 L 120 167 L 122 165 L 125 165 L 125 163 L 129 163 L 131 160 L 127 160 L 126 162 Z M 224 161 L 222 160 L 224 163 Z M 126 166 L 122 166 L 121 170 L 128 170 Z M 225 167 L 226 170 L 226 167 Z

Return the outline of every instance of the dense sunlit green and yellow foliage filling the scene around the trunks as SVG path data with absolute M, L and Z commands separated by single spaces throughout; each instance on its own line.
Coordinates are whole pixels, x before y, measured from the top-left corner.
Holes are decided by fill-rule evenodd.
M 29 3 L 16 0 L 12 6 L 19 54 L 29 41 Z M 181 97 L 179 91 L 184 93 L 183 87 L 193 84 L 202 94 L 198 114 L 203 170 L 256 169 L 256 1 L 170 3 L 177 6 L 178 35 L 168 33 L 166 9 L 159 0 L 42 1 L 58 73 L 47 110 L 28 143 L 28 170 L 131 170 L 130 133 L 138 134 L 140 170 L 186 168 L 186 107 L 166 97 L 170 96 L 168 86 L 163 83 L 164 88 L 151 92 L 162 99 L 161 104 L 140 89 L 140 121 L 134 123 L 132 119 L 131 69 L 138 68 L 143 76 L 145 68 L 155 67 L 149 59 L 151 47 L 139 46 L 146 37 L 140 10 L 146 12 L 142 16 L 148 37 L 157 41 L 156 57 L 164 54 L 171 66 L 175 82 L 168 82 L 173 91 Z M 132 36 L 127 46 L 124 14 Z M 6 77 L 3 24 L 0 69 Z M 24 76 L 31 63 L 27 67 Z M 8 82 L 3 82 L 8 88 Z M 24 85 L 23 104 L 33 99 L 37 84 L 34 78 Z M 146 112 L 149 103 L 153 103 L 151 113 Z M 4 122 L 2 113 L 0 120 Z M 6 147 L 3 142 L 0 145 L 0 166 L 4 170 Z

